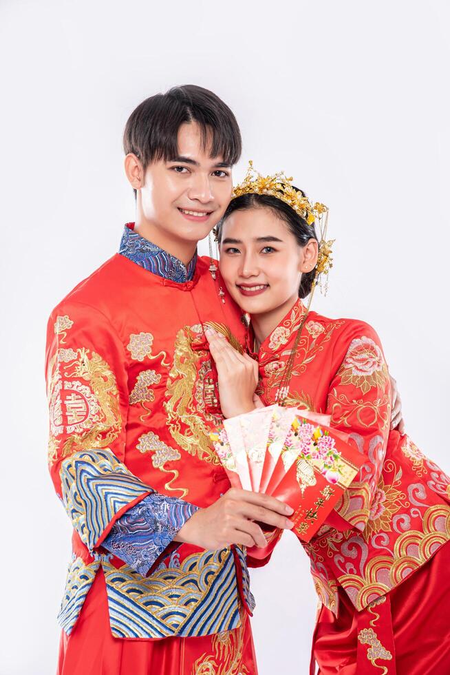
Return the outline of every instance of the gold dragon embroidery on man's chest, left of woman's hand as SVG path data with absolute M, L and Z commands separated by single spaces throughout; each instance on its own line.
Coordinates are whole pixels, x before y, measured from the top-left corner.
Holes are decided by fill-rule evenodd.
M 204 403 L 199 402 L 198 386 L 204 386 L 202 378 L 205 376 L 205 369 L 200 365 L 197 373 L 197 364 L 207 356 L 203 349 L 192 349 L 192 343 L 199 338 L 199 328 L 201 326 L 186 326 L 177 333 L 173 366 L 167 380 L 168 400 L 164 407 L 167 411 L 167 425 L 176 444 L 190 455 L 219 464 L 205 421 L 219 424 L 221 418 L 206 412 Z M 204 419 L 198 414 L 199 411 Z

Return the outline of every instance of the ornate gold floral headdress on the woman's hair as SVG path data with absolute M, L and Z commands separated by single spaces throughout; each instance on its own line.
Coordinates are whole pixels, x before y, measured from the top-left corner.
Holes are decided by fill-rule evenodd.
M 328 290 L 328 272 L 333 267 L 331 254 L 332 245 L 334 244 L 334 239 L 328 241 L 326 239 L 328 207 L 319 202 L 311 205 L 308 197 L 304 196 L 301 191 L 294 188 L 292 185 L 292 177 L 289 178 L 282 171 L 273 176 L 261 176 L 261 174 L 253 168 L 252 160 L 248 163 L 248 169 L 244 180 L 233 189 L 232 199 L 244 194 L 265 194 L 281 199 L 281 201 L 290 206 L 291 209 L 294 209 L 301 218 L 304 218 L 308 225 L 318 225 L 319 257 L 317 258 L 314 281 L 312 282 L 311 296 L 312 291 L 314 291 L 314 287 L 319 280 L 321 290 L 324 289 L 326 293 Z M 322 286 L 323 277 L 326 277 L 324 286 Z

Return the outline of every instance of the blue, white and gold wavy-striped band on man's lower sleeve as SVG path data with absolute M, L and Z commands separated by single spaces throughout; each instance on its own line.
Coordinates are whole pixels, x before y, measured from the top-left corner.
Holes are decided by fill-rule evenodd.
M 74 453 L 61 463 L 60 475 L 65 509 L 90 552 L 116 513 L 154 492 L 109 448 Z

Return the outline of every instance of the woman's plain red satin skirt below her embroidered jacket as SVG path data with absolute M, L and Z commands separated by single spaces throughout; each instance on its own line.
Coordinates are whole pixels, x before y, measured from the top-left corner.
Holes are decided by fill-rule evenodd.
M 396 588 L 357 612 L 339 588 L 339 615 L 319 613 L 318 675 L 450 675 L 450 543 Z

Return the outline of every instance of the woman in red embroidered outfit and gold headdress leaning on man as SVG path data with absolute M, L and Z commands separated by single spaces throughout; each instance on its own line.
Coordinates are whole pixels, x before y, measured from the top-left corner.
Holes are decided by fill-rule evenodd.
M 311 673 L 315 659 L 321 675 L 449 674 L 449 478 L 389 430 L 389 375 L 374 329 L 302 302 L 330 267 L 330 242 L 314 230 L 325 207 L 311 207 L 286 176 L 251 167 L 234 195 L 217 231 L 220 272 L 250 315 L 259 382 L 255 396 L 248 359 L 207 331 L 222 411 L 278 402 L 325 413 L 365 457 L 303 543 L 321 601 Z

